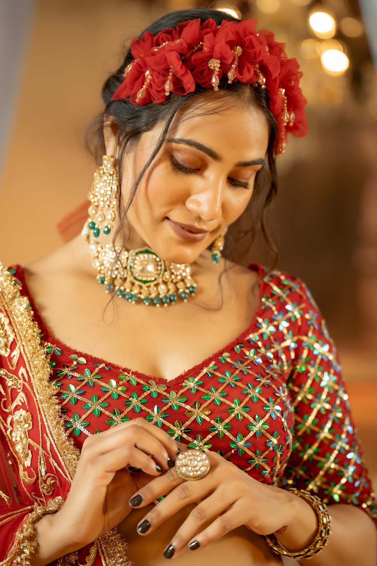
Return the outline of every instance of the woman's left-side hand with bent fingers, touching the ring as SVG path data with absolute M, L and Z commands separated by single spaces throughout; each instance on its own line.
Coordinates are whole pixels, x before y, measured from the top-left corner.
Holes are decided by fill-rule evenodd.
M 130 496 L 174 466 L 178 448 L 166 432 L 142 418 L 88 436 L 67 500 L 54 514 L 54 528 L 67 540 L 67 552 L 123 521 L 132 511 Z M 142 472 L 130 474 L 128 464 Z

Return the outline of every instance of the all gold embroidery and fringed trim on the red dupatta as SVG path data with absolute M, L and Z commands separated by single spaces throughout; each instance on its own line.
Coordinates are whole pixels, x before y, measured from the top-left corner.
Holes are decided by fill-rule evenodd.
M 4 410 L 12 412 L 16 404 L 20 404 L 21 401 L 26 403 L 25 397 L 22 397 L 24 393 L 21 389 L 28 382 L 28 388 L 36 401 L 37 415 L 35 418 L 40 423 L 44 422 L 48 435 L 48 438 L 45 434 L 45 439 L 40 440 L 40 446 L 34 446 L 38 450 L 40 457 L 38 468 L 32 471 L 34 474 L 38 471 L 41 493 L 50 495 L 53 484 L 60 484 L 60 481 L 55 475 L 46 474 L 44 461 L 46 448 L 50 451 L 51 445 L 55 447 L 55 451 L 59 456 L 54 462 L 55 470 L 62 474 L 66 481 L 70 483 L 72 483 L 72 479 L 75 477 L 80 451 L 73 443 L 73 440 L 68 439 L 64 432 L 60 405 L 54 396 L 56 388 L 49 379 L 51 366 L 49 365 L 46 351 L 41 344 L 41 330 L 36 321 L 33 320 L 33 311 L 30 308 L 28 298 L 21 295 L 19 291 L 20 286 L 16 284 L 15 277 L 0 262 L 0 355 L 6 358 L 10 370 L 15 370 L 20 356 L 23 358 L 24 363 L 24 366 L 19 370 L 18 376 L 10 374 L 5 368 L 2 369 L 3 375 L 6 375 L 8 379 L 8 387 L 14 387 L 20 392 L 20 396 L 11 404 L 9 410 L 5 408 Z M 15 443 L 13 445 L 14 449 L 18 454 L 20 464 L 23 466 L 27 466 L 29 453 L 27 445 L 21 447 L 19 444 L 21 444 L 21 436 L 23 440 L 28 439 L 27 430 L 31 424 L 27 416 L 28 414 L 25 410 L 15 412 L 13 418 L 18 419 L 18 422 L 17 424 L 15 423 L 11 432 Z M 21 432 L 20 426 L 26 426 L 25 430 Z M 42 441 L 47 443 L 43 448 Z M 17 448 L 18 445 L 19 448 Z M 51 460 L 51 455 L 48 454 L 48 456 Z M 29 484 L 35 481 L 34 478 L 29 479 L 22 468 L 20 468 L 20 478 Z M 29 514 L 27 522 L 21 528 L 21 533 L 16 535 L 15 545 L 19 543 L 17 544 L 17 549 L 19 550 L 13 548 L 12 554 L 5 561 L 1 562 L 0 566 L 10 566 L 12 561 L 14 561 L 12 556 L 14 555 L 16 558 L 15 552 L 18 552 L 17 564 L 21 566 L 30 564 L 27 556 L 34 550 L 36 545 L 36 541 L 33 540 L 33 521 L 42 517 L 43 514 L 57 511 L 59 507 L 53 511 L 40 511 L 42 514 L 38 515 L 38 517 L 37 509 L 50 509 L 51 505 L 53 505 L 51 502 L 57 502 L 58 500 L 61 504 L 62 498 L 58 496 L 47 505 L 38 505 L 35 508 L 36 510 Z M 103 566 L 131 566 L 132 563 L 128 560 L 126 551 L 127 544 L 120 537 L 119 531 L 115 527 L 94 542 L 89 551 L 87 565 L 89 566 L 89 563 L 93 564 L 99 554 Z M 74 558 L 73 555 L 74 553 L 71 555 L 72 559 Z M 19 556 L 21 557 L 20 559 L 18 558 Z M 64 564 L 64 561 L 62 564 Z

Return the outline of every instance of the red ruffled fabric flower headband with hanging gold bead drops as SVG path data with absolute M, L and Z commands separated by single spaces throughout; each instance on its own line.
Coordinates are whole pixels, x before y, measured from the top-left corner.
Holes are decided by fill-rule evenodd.
M 131 41 L 134 60 L 124 70 L 124 81 L 111 100 L 129 98 L 133 104 L 161 104 L 170 92 L 186 95 L 195 84 L 218 90 L 225 74 L 228 83 L 260 85 L 270 95 L 270 109 L 278 123 L 275 153 L 284 153 L 286 135 L 307 133 L 304 106 L 298 86 L 302 72 L 296 59 L 288 59 L 284 43 L 274 33 L 255 31 L 257 20 L 227 22 L 189 20 L 156 36 L 144 32 Z

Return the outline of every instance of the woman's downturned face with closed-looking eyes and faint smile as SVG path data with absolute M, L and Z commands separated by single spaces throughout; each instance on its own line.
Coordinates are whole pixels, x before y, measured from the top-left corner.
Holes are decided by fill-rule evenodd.
M 205 114 L 211 110 L 215 112 Z M 185 110 L 185 118 L 189 112 Z M 266 166 L 267 119 L 260 110 L 239 105 L 220 112 L 216 101 L 202 112 L 195 115 L 193 110 L 192 117 L 174 126 L 142 178 L 128 211 L 127 248 L 148 246 L 165 261 L 193 263 L 247 207 L 255 174 Z M 162 128 L 142 134 L 125 156 L 124 203 Z M 176 223 L 202 234 L 193 235 Z

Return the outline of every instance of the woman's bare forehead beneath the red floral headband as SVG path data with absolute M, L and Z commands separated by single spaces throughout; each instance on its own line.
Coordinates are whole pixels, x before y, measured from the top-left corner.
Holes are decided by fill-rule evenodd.
M 200 141 L 233 163 L 264 157 L 269 136 L 266 115 L 255 106 L 229 99 L 205 100 L 181 110 L 170 135 Z

